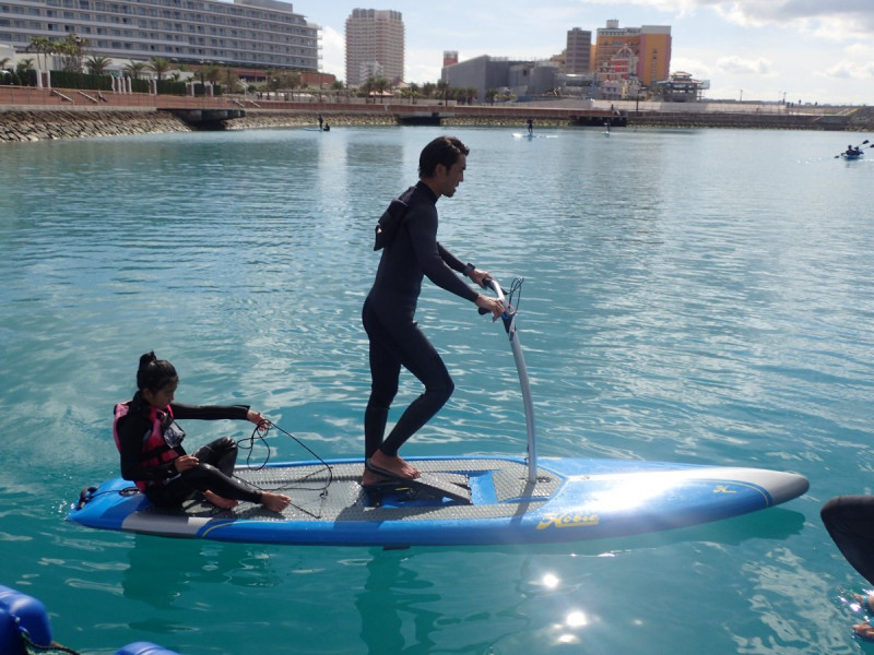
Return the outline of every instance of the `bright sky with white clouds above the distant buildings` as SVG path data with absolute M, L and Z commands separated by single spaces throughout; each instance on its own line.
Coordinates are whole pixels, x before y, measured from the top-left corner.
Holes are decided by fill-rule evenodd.
M 322 71 L 345 80 L 353 9 L 400 11 L 406 82 L 440 79 L 444 50 L 547 59 L 574 27 L 670 25 L 671 72 L 709 80 L 707 99 L 874 104 L 874 0 L 294 0 L 322 28 Z

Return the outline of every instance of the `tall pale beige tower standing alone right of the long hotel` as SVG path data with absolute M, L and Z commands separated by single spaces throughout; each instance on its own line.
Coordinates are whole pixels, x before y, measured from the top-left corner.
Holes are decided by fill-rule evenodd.
M 353 9 L 346 19 L 346 84 L 359 86 L 368 78 L 402 81 L 403 43 L 401 12 Z

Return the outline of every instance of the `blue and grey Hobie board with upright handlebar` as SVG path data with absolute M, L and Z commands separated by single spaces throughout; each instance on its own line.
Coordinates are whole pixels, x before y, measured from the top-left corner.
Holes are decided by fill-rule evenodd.
M 255 487 L 282 491 L 282 513 L 240 502 L 218 510 L 190 501 L 152 505 L 129 481 L 82 491 L 68 521 L 101 529 L 264 544 L 425 546 L 579 541 L 719 521 L 769 508 L 807 490 L 800 475 L 761 468 L 536 455 L 528 373 L 516 308 L 500 286 L 504 325 L 525 409 L 528 456 L 411 458 L 423 475 L 379 487 L 359 485 L 362 460 L 237 467 Z M 515 289 L 518 284 L 515 285 Z

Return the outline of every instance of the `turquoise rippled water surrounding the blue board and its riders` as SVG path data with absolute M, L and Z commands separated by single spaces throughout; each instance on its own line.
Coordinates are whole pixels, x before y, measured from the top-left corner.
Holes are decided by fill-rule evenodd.
M 248 402 L 362 452 L 373 224 L 437 130 L 244 131 L 0 148 L 0 584 L 87 654 L 857 653 L 865 582 L 819 522 L 872 489 L 874 160 L 846 134 L 452 130 L 440 238 L 505 286 L 542 455 L 794 471 L 780 508 L 536 548 L 279 547 L 87 531 L 114 403 L 155 349 L 182 401 Z M 863 139 L 864 136 L 861 136 Z M 874 157 L 872 157 L 874 159 Z M 457 390 L 413 455 L 522 454 L 503 331 L 426 286 Z M 401 397 L 418 393 L 408 377 Z M 190 445 L 248 436 L 186 426 Z M 287 438 L 273 461 L 308 456 Z

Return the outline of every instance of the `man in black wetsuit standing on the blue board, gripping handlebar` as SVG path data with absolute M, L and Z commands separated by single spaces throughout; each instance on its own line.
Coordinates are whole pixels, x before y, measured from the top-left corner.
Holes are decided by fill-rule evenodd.
M 496 298 L 476 293 L 457 275 L 461 273 L 483 286 L 488 273 L 464 264 L 437 241 L 437 200 L 454 195 L 464 179 L 469 152 L 452 136 L 439 136 L 422 151 L 418 183 L 403 195 L 408 204 L 403 223 L 382 251 L 374 286 L 364 302 L 362 321 L 370 340 L 373 381 L 364 415 L 363 485 L 377 484 L 385 477 L 421 475 L 398 456 L 398 451 L 444 406 L 454 389 L 442 359 L 413 320 L 423 276 L 496 318 L 504 312 Z M 425 391 L 404 410 L 383 441 L 402 366 L 425 385 Z

